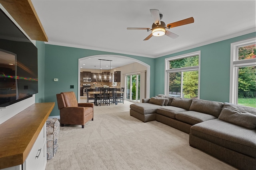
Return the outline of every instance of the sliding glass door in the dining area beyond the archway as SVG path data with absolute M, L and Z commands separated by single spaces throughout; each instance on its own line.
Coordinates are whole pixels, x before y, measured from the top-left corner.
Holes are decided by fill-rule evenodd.
M 140 74 L 126 74 L 126 100 L 140 102 Z

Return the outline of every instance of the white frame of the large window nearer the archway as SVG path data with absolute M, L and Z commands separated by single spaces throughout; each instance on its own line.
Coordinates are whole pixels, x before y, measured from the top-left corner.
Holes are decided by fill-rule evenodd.
M 183 68 L 169 68 L 169 62 L 172 60 L 184 59 L 198 55 L 198 66 L 189 66 Z M 169 96 L 169 73 L 170 72 L 184 72 L 184 71 L 198 71 L 198 99 L 200 99 L 200 63 L 201 63 L 201 51 L 195 51 L 192 53 L 186 53 L 174 57 L 165 59 L 165 72 L 164 72 L 164 94 Z

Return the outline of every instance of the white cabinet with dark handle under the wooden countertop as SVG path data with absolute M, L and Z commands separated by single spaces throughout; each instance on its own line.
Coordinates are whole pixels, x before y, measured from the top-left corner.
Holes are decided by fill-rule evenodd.
M 24 163 L 22 165 L 12 166 L 2 170 L 45 170 L 46 163 L 46 123 L 44 123 L 44 127 L 39 133 L 36 142 Z

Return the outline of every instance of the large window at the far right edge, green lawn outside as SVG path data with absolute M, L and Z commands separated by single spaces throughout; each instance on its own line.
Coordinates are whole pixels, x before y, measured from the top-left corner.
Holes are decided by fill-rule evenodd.
M 230 103 L 256 107 L 256 38 L 231 44 Z

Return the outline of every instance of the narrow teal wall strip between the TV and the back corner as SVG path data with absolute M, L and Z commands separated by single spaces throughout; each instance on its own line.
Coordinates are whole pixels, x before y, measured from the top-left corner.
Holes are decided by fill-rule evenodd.
M 36 103 L 44 102 L 44 61 L 45 61 L 45 44 L 42 41 L 36 41 L 38 53 L 38 93 L 36 94 Z

